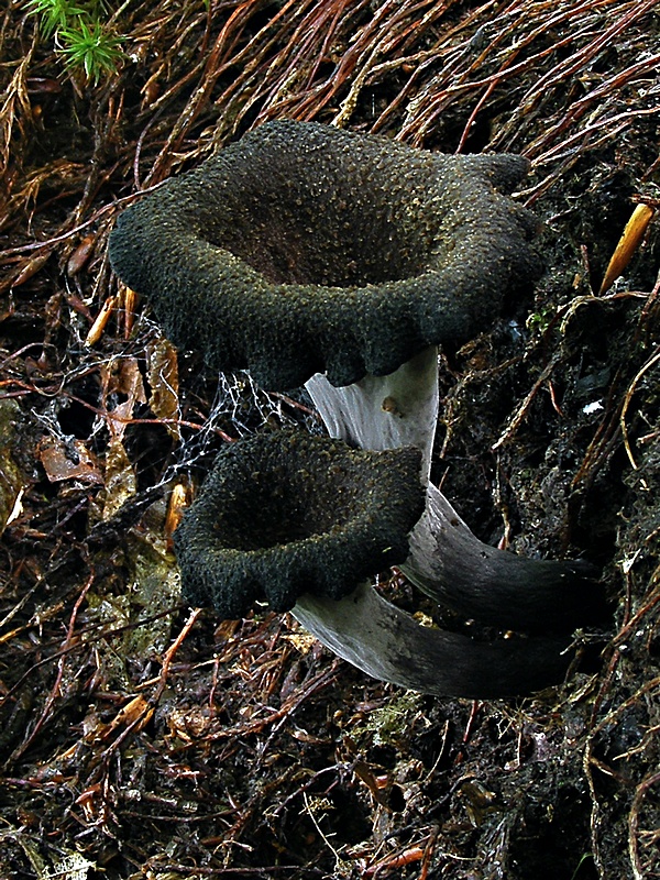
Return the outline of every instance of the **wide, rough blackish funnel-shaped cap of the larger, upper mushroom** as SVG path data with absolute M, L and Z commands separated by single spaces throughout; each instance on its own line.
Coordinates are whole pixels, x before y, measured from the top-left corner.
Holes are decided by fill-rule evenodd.
M 121 215 L 119 277 L 178 345 L 287 389 L 385 375 L 486 327 L 538 274 L 513 155 L 266 123 Z

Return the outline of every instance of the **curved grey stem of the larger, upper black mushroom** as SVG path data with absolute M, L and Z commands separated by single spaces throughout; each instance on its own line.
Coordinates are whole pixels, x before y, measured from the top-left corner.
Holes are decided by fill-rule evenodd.
M 435 346 L 387 376 L 336 388 L 317 374 L 306 387 L 332 437 L 363 449 L 421 450 L 426 510 L 399 568 L 424 593 L 482 623 L 525 631 L 570 629 L 597 603 L 590 565 L 528 559 L 484 543 L 429 482 L 439 402 Z

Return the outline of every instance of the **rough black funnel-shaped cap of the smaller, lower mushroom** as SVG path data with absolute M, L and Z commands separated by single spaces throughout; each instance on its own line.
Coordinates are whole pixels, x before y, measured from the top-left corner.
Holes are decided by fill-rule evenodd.
M 421 516 L 415 449 L 354 450 L 283 431 L 226 447 L 175 532 L 184 597 L 226 618 L 257 600 L 341 598 L 403 562 Z

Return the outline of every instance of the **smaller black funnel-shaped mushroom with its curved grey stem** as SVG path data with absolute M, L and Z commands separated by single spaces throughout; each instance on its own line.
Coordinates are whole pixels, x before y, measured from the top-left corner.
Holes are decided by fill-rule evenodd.
M 502 696 L 556 681 L 563 642 L 422 627 L 364 583 L 408 556 L 425 505 L 420 460 L 300 432 L 226 447 L 175 532 L 184 598 L 226 618 L 258 601 L 295 607 L 340 657 L 427 693 Z

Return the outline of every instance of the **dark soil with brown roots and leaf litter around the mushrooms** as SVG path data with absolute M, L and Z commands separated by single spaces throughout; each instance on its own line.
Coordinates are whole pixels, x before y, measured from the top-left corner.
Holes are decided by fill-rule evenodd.
M 657 0 L 143 2 L 98 86 L 8 10 L 0 876 L 657 876 L 657 220 L 597 295 L 658 200 Z M 547 273 L 444 352 L 433 474 L 480 537 L 603 566 L 612 624 L 566 684 L 406 694 L 286 616 L 180 606 L 173 486 L 228 437 L 314 417 L 176 359 L 107 238 L 138 189 L 277 117 L 532 161 Z

